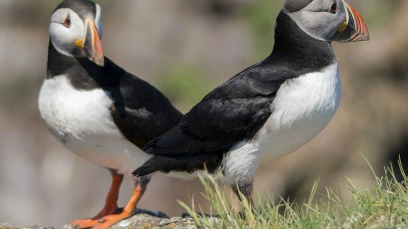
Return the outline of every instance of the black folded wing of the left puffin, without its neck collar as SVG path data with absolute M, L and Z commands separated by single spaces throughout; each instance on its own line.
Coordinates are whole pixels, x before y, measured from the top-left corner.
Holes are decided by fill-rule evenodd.
M 113 121 L 122 134 L 143 148 L 180 122 L 182 114 L 154 86 L 105 58 L 102 88 L 113 101 Z

